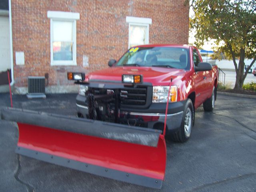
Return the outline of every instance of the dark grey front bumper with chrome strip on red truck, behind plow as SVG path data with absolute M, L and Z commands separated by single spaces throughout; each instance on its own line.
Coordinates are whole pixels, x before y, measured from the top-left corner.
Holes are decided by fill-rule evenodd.
M 169 103 L 166 118 L 166 128 L 168 132 L 175 132 L 181 125 L 185 101 Z M 76 97 L 76 109 L 78 117 L 88 116 L 86 98 L 81 95 Z M 166 103 L 152 103 L 149 108 L 120 108 L 120 120 L 124 124 L 131 126 L 143 126 L 152 129 L 162 129 L 164 127 Z M 125 122 L 126 121 L 126 122 Z

